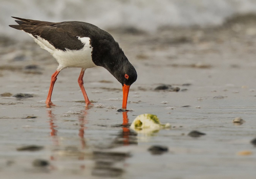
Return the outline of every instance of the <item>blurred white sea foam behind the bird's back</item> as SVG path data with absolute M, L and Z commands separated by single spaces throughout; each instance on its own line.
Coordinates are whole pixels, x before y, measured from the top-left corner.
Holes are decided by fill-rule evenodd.
M 220 25 L 228 16 L 255 11 L 252 0 L 12 0 L 0 4 L 0 34 L 24 36 L 10 30 L 8 25 L 15 24 L 10 16 L 154 31 L 160 26 Z

